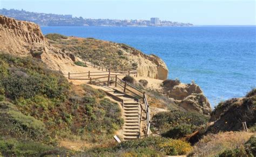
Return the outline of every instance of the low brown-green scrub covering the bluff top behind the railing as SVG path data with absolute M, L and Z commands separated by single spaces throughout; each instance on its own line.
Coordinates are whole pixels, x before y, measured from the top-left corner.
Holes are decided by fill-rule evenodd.
M 94 38 L 72 38 L 60 34 L 47 34 L 49 43 L 63 51 L 70 51 L 85 61 L 111 70 L 137 69 L 138 63 L 128 59 L 131 54 L 139 54 L 138 50 L 113 42 L 106 42 Z

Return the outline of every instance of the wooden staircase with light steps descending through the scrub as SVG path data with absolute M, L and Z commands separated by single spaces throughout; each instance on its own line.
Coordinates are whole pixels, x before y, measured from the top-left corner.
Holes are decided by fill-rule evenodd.
M 123 105 L 124 126 L 123 139 L 132 140 L 140 138 L 140 106 L 139 102 L 132 96 L 127 95 L 114 87 L 105 88 L 107 95 L 121 102 Z

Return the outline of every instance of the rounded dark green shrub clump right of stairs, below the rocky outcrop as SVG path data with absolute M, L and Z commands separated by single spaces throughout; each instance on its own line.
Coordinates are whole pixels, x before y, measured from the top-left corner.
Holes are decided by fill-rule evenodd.
M 194 112 L 159 112 L 152 118 L 152 130 L 164 137 L 183 138 L 207 123 L 208 118 Z

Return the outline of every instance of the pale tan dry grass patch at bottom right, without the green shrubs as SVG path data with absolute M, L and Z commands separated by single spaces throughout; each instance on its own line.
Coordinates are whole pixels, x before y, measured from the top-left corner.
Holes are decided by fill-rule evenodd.
M 194 156 L 215 156 L 226 149 L 241 147 L 250 137 L 251 132 L 220 132 L 208 134 L 193 147 L 191 154 Z

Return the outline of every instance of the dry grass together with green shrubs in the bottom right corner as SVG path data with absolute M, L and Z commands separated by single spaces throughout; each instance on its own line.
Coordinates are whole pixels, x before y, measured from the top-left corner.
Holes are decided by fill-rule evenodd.
M 214 156 L 220 154 L 222 156 L 229 156 L 228 154 L 233 154 L 233 156 L 236 156 L 234 154 L 241 154 L 238 156 L 246 156 L 242 155 L 245 154 L 244 150 L 251 149 L 251 151 L 253 151 L 253 143 L 255 145 L 255 141 L 251 142 L 253 140 L 249 140 L 252 135 L 253 133 L 249 132 L 220 132 L 217 134 L 207 134 L 194 145 L 191 155 Z M 247 142 L 248 140 L 250 142 Z

